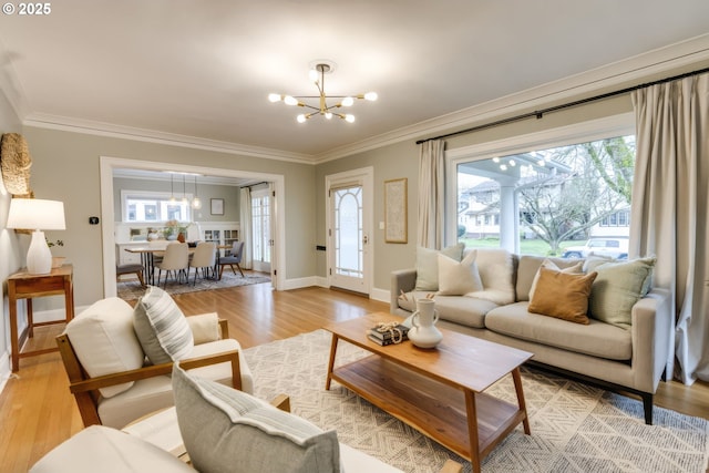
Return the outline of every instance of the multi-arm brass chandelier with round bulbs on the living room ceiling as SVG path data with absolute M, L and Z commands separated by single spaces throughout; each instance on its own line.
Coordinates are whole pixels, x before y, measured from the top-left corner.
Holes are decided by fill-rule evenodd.
M 309 72 L 310 80 L 318 88 L 319 95 L 282 95 L 282 94 L 268 94 L 270 102 L 284 101 L 286 105 L 302 106 L 312 110 L 312 112 L 301 113 L 296 117 L 298 123 L 305 123 L 314 115 L 322 115 L 327 120 L 332 116 L 338 116 L 346 122 L 354 122 L 354 115 L 350 113 L 340 113 L 337 110 L 341 107 L 352 106 L 356 100 L 364 99 L 368 101 L 377 100 L 377 92 L 367 92 L 366 94 L 357 95 L 327 95 L 325 93 L 325 74 L 329 74 L 335 70 L 335 64 L 331 62 L 317 62 Z M 310 105 L 304 102 L 304 100 L 318 99 L 318 105 Z M 328 105 L 328 102 L 331 105 Z M 332 103 L 335 102 L 335 103 Z

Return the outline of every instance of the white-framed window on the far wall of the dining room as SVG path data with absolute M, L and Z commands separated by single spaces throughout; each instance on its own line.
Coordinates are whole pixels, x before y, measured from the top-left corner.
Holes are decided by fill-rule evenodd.
M 191 195 L 171 200 L 169 193 L 148 191 L 121 191 L 123 222 L 157 223 L 167 220 L 191 222 Z

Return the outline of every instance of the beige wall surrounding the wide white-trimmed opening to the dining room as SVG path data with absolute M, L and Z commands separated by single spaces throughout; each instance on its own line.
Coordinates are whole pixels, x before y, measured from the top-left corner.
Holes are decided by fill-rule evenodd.
M 101 215 L 101 156 L 284 175 L 286 278 L 316 273 L 311 165 L 31 126 L 23 134 L 34 162 L 32 187 L 37 197 L 64 202 L 66 230 L 47 234 L 51 239 L 64 240 L 62 253 L 74 264 L 76 306 L 103 297 L 101 226 L 105 223 L 89 225 L 90 216 Z M 61 300 L 49 300 L 45 306 L 42 302 L 45 300 L 38 299 L 38 310 L 59 307 Z

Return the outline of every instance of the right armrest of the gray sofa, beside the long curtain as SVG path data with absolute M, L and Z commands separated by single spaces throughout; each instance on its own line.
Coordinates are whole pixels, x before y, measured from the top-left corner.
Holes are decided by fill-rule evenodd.
M 654 393 L 667 366 L 671 329 L 670 292 L 655 288 L 633 306 L 635 388 Z M 671 373 L 670 373 L 671 374 Z

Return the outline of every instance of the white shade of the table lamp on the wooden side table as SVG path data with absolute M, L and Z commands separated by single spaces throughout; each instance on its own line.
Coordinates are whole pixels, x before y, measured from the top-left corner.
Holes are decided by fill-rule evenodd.
M 64 203 L 41 198 L 13 198 L 10 200 L 8 228 L 65 230 Z

